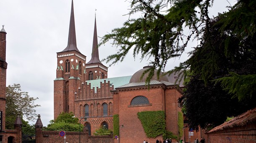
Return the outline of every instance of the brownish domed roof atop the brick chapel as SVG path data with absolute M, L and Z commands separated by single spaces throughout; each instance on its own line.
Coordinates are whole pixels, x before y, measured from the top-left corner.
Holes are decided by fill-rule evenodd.
M 133 74 L 133 76 L 131 77 L 130 83 L 139 83 L 139 82 L 145 82 L 146 78 L 149 76 L 149 72 L 145 73 L 145 75 L 143 76 L 143 78 L 141 79 L 142 73 L 145 70 L 148 70 L 149 68 L 152 68 L 152 66 L 145 66 L 143 67 L 143 69 L 138 70 L 136 73 Z M 159 79 L 157 79 L 157 69 L 154 70 L 154 76 L 152 77 L 151 80 L 157 80 L 157 81 L 168 81 L 168 78 L 166 76 L 162 75 L 163 73 L 160 72 L 159 75 Z

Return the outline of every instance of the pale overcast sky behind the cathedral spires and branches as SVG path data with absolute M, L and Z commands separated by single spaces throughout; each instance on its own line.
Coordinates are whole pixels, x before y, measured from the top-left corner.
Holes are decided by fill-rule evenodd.
M 225 11 L 225 6 L 235 3 L 215 0 L 211 15 Z M 91 59 L 95 9 L 99 37 L 111 33 L 128 20 L 129 2 L 125 0 L 73 0 L 78 50 Z M 5 25 L 6 35 L 6 86 L 21 84 L 21 90 L 39 98 L 37 114 L 41 114 L 44 126 L 53 119 L 53 80 L 56 78 L 57 52 L 68 43 L 71 0 L 0 0 L 0 25 Z M 2 26 L 0 27 L 2 29 Z M 100 38 L 98 38 L 100 41 Z M 193 47 L 194 45 L 190 45 Z M 116 49 L 110 44 L 99 48 L 99 58 L 106 58 Z M 188 58 L 167 63 L 167 70 L 178 66 Z M 130 53 L 122 63 L 108 69 L 108 78 L 133 75 L 149 63 L 136 60 Z M 108 66 L 105 62 L 104 65 Z M 33 124 L 35 123 L 32 122 Z

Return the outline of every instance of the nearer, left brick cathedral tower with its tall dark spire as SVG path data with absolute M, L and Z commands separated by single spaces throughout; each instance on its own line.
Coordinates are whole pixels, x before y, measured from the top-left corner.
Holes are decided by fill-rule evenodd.
M 86 56 L 76 46 L 73 0 L 67 47 L 57 53 L 57 70 L 54 80 L 54 118 L 61 112 L 76 113 L 74 100 L 78 88 L 85 82 Z

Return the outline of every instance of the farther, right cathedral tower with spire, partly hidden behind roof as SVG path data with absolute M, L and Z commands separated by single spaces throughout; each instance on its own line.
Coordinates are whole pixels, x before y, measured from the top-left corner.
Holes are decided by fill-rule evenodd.
M 107 78 L 107 67 L 103 65 L 99 60 L 98 36 L 95 15 L 91 60 L 86 63 L 86 79 L 96 80 L 103 78 Z

